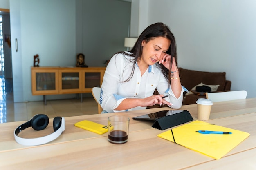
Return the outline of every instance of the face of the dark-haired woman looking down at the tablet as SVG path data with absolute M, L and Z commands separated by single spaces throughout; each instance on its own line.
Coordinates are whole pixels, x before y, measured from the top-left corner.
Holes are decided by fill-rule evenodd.
M 164 57 L 171 45 L 171 40 L 165 37 L 157 37 L 147 43 L 143 40 L 141 45 L 143 46 L 141 62 L 153 65 Z

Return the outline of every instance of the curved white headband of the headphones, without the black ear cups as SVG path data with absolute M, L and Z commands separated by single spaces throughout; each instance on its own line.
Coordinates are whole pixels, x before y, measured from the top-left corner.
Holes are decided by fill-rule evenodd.
M 37 116 L 37 115 L 35 115 L 35 116 Z M 14 138 L 15 138 L 15 141 L 18 144 L 27 145 L 27 146 L 46 144 L 46 143 L 48 143 L 50 141 L 53 141 L 54 139 L 58 138 L 61 135 L 61 133 L 64 132 L 64 130 L 65 130 L 65 119 L 64 119 L 64 117 L 61 117 L 61 126 L 58 127 L 58 129 L 55 132 L 53 132 L 52 134 L 49 134 L 49 135 L 46 135 L 46 136 L 43 136 L 43 137 L 38 137 L 38 138 L 31 138 L 31 139 L 18 137 L 18 134 L 22 130 L 32 126 L 31 124 L 32 124 L 33 118 L 31 120 L 27 121 L 26 123 L 18 126 L 16 128 L 16 130 L 14 130 Z M 58 118 L 58 117 L 55 117 L 54 119 L 56 119 L 56 118 Z

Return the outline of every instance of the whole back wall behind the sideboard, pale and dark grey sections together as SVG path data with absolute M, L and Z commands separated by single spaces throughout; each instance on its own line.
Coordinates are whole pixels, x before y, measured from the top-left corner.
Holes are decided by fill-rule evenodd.
M 15 44 L 15 38 L 17 38 L 13 33 L 20 32 L 18 51 L 21 53 L 18 55 L 15 46 L 12 46 L 14 102 L 43 99 L 43 96 L 33 96 L 31 93 L 31 66 L 36 54 L 40 58 L 39 66 L 75 66 L 76 54 L 83 53 L 86 57 L 85 63 L 91 67 L 105 66 L 104 62 L 114 53 L 126 49 L 124 37 L 127 36 L 130 22 L 130 2 L 116 0 L 105 0 L 104 3 L 101 0 L 9 1 L 11 2 L 11 20 L 18 20 L 17 23 L 20 24 L 20 29 L 15 25 L 16 22 L 11 24 L 11 29 L 16 29 L 11 31 L 12 44 Z M 83 7 L 82 12 L 76 13 L 76 6 L 79 5 Z M 12 17 L 13 13 L 17 15 Z M 76 18 L 76 15 L 80 16 Z M 76 24 L 77 22 L 79 24 Z M 79 26 L 82 29 L 76 29 Z M 80 44 L 79 36 L 84 40 Z M 64 99 L 74 96 L 75 94 L 47 95 L 47 99 Z

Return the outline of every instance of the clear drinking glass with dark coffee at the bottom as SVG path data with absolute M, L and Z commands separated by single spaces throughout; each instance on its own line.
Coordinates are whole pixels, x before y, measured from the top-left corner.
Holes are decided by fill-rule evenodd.
M 122 115 L 108 117 L 108 141 L 124 144 L 128 141 L 130 118 Z

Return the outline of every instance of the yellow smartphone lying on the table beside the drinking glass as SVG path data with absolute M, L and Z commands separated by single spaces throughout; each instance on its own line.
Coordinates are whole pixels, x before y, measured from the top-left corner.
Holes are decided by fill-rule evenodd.
M 108 126 L 98 124 L 98 123 L 88 121 L 88 120 L 79 121 L 79 122 L 75 123 L 75 126 L 85 129 L 85 130 L 89 130 L 94 133 L 98 133 L 100 135 L 108 132 Z

